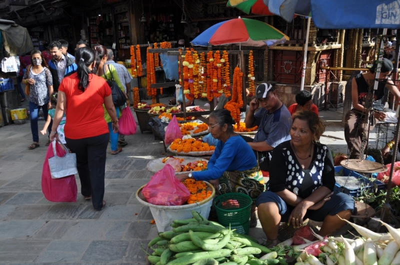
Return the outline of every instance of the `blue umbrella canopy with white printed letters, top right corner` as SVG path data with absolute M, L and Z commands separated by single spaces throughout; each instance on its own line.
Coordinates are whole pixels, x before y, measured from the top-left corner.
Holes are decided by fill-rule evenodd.
M 293 14 L 311 15 L 318 28 L 398 28 L 396 0 L 263 0 L 271 13 L 286 21 Z

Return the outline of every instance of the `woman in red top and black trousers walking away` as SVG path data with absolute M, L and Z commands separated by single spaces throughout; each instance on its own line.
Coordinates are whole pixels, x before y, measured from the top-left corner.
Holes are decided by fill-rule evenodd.
M 95 211 L 100 211 L 105 205 L 105 155 L 109 137 L 102 104 L 112 119 L 114 132 L 119 129 L 118 119 L 110 87 L 103 78 L 91 73 L 95 51 L 87 47 L 77 49 L 75 63 L 76 73 L 65 77 L 58 88 L 50 141 L 57 137 L 57 127 L 65 113 L 65 141 L 70 151 L 76 153 L 81 194 L 91 199 Z

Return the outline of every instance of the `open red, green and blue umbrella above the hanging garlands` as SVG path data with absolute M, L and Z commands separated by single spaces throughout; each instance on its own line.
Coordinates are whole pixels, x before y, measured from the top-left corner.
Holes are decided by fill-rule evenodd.
M 244 46 L 272 46 L 284 43 L 289 37 L 265 22 L 234 18 L 219 22 L 191 41 L 195 46 L 241 44 Z

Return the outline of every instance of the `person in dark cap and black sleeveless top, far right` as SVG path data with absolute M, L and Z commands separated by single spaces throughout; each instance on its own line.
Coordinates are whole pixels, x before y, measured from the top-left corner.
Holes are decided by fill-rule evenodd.
M 350 159 L 363 159 L 369 131 L 373 129 L 375 122 L 383 121 L 386 118 L 386 114 L 383 112 L 385 96 L 387 97 L 385 88 L 394 95 L 395 102 L 400 97 L 400 92 L 389 77 L 393 70 L 391 61 L 386 58 L 382 60 L 377 90 L 373 90 L 377 61 L 372 66 L 368 65 L 367 68 L 369 68 L 369 72 L 359 73 L 352 80 L 351 101 L 353 108 L 346 113 L 344 119 L 344 138 L 350 150 Z M 373 117 L 367 122 L 366 114 L 370 103 L 372 103 L 373 109 L 370 115 Z

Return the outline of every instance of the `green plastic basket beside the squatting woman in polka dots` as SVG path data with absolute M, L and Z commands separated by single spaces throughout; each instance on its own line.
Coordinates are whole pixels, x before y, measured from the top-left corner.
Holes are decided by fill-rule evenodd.
M 218 222 L 224 227 L 236 229 L 239 234 L 247 234 L 250 228 L 252 199 L 242 193 L 226 193 L 214 201 Z

